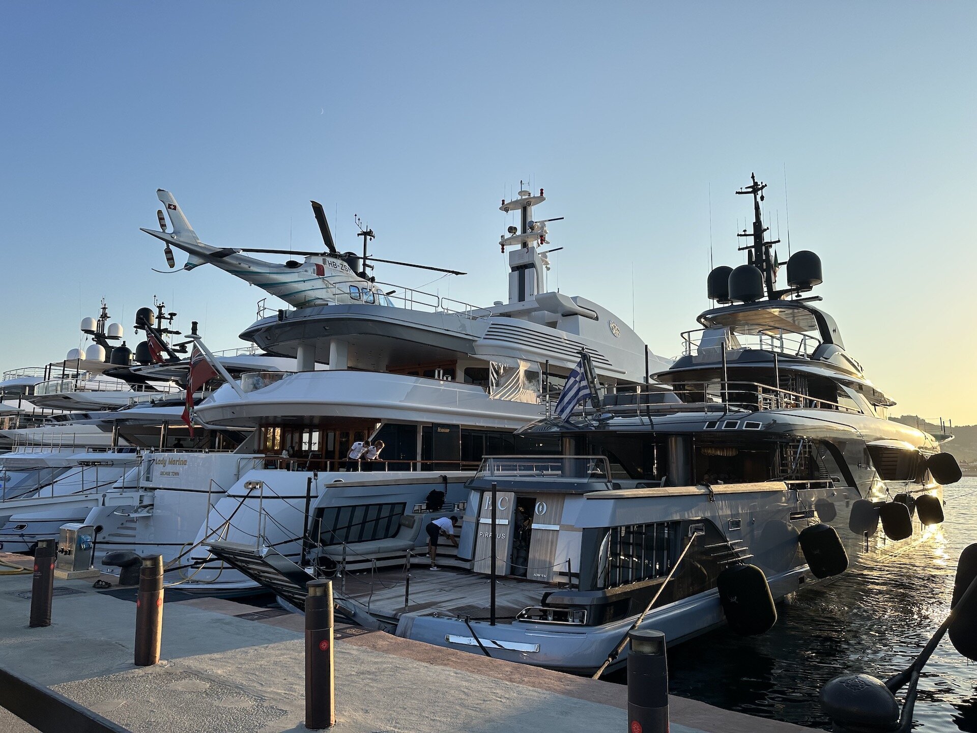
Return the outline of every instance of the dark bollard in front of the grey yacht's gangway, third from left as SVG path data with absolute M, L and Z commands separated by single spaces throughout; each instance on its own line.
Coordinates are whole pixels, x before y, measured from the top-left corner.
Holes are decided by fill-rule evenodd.
M 306 587 L 306 727 L 336 724 L 336 679 L 332 656 L 332 581 Z

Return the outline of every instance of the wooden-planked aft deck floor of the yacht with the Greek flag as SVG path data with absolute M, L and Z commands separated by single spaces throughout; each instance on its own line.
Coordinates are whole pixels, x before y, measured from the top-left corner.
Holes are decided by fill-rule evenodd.
M 514 618 L 528 606 L 538 605 L 547 590 L 557 589 L 554 583 L 524 581 L 499 577 L 495 582 L 495 615 L 499 619 Z M 488 619 L 489 579 L 442 565 L 431 570 L 426 565 L 410 569 L 410 588 L 406 608 L 404 569 L 351 573 L 333 582 L 338 596 L 355 601 L 371 616 L 394 622 L 404 613 L 430 614 L 461 619 Z

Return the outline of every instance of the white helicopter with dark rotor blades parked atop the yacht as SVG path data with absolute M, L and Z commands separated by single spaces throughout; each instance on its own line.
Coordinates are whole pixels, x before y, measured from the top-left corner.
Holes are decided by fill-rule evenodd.
M 375 284 L 376 279 L 367 274 L 367 270 L 373 268 L 371 262 L 434 270 L 450 275 L 465 274 L 440 267 L 383 260 L 369 255 L 367 243 L 375 235 L 373 230 L 363 227 L 359 219 L 357 219 L 357 225 L 360 228 L 360 233 L 357 236 L 362 237 L 363 240 L 362 255 L 356 252 L 340 252 L 332 238 L 322 206 L 317 201 L 311 201 L 311 203 L 316 221 L 319 222 L 319 232 L 321 232 L 322 241 L 325 243 L 325 251 L 303 252 L 290 249 L 210 246 L 204 244 L 196 236 L 173 194 L 158 189 L 156 195 L 164 206 L 164 209 L 156 211 L 160 231 L 141 229 L 148 235 L 162 239 L 166 243 L 163 253 L 170 268 L 176 266 L 172 247 L 177 247 L 190 255 L 187 263 L 183 266 L 184 270 L 192 270 L 200 265 L 214 265 L 231 273 L 236 278 L 246 280 L 263 290 L 267 290 L 295 308 L 362 302 L 393 305 L 387 297 L 393 291 L 385 293 Z M 170 232 L 166 231 L 164 210 L 170 220 L 172 230 Z M 304 256 L 305 260 L 303 262 L 288 260 L 284 264 L 280 264 L 248 257 L 241 254 L 242 252 L 300 255 Z

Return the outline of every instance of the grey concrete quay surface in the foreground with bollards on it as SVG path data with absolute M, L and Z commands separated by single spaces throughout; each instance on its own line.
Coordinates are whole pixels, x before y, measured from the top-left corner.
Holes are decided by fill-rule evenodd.
M 135 604 L 92 582 L 56 581 L 52 625 L 29 628 L 31 576 L 0 577 L 0 664 L 134 733 L 306 730 L 302 617 L 215 598 L 172 600 L 160 663 L 137 668 Z M 627 730 L 623 685 L 380 631 L 337 625 L 335 666 L 332 730 L 344 733 Z M 669 709 L 675 733 L 807 731 L 674 696 Z M 0 730 L 33 729 L 0 709 Z

